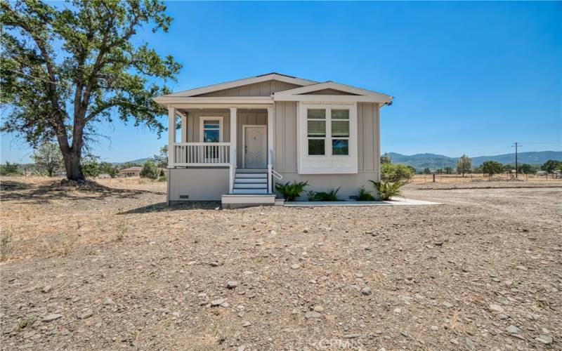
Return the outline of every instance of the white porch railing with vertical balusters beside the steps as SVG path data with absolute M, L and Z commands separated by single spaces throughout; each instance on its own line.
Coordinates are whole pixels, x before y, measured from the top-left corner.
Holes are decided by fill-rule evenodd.
M 229 166 L 230 143 L 175 143 L 172 166 Z

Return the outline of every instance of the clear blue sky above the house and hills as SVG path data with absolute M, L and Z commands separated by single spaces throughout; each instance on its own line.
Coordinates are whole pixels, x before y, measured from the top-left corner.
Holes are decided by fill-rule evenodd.
M 183 64 L 174 91 L 281 72 L 395 96 L 381 150 L 471 156 L 562 150 L 561 2 L 168 2 L 169 33 L 135 38 Z M 147 128 L 100 126 L 94 153 L 148 157 Z M 1 161 L 29 161 L 1 136 Z

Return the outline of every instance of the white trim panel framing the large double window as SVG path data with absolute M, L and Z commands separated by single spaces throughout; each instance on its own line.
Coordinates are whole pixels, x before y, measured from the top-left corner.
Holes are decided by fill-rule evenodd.
M 326 110 L 325 138 L 308 137 L 308 109 Z M 332 110 L 349 110 L 349 136 L 332 137 Z M 358 173 L 358 127 L 357 102 L 298 102 L 297 107 L 297 172 L 299 174 L 344 174 Z M 309 155 L 308 139 L 324 139 L 325 154 Z M 348 140 L 348 154 L 332 154 L 332 140 Z

